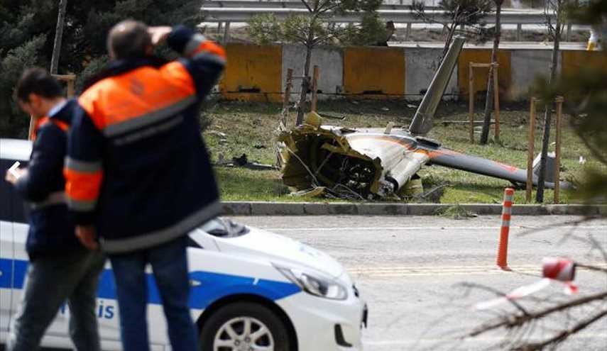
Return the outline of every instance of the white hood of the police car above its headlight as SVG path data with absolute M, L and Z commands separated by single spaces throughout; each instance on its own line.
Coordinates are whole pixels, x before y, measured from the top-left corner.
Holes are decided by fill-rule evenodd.
M 214 238 L 219 250 L 239 255 L 263 256 L 275 264 L 290 263 L 307 267 L 334 278 L 344 273 L 344 267 L 337 260 L 314 247 L 259 228 L 246 228 L 248 233 L 244 235 Z

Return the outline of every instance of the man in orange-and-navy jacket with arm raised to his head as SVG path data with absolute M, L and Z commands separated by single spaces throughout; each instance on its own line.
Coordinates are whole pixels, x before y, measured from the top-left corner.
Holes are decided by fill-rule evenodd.
M 163 40 L 182 58 L 151 56 Z M 175 351 L 198 350 L 190 316 L 187 233 L 217 216 L 219 194 L 202 142 L 199 105 L 224 50 L 178 26 L 124 21 L 108 35 L 112 62 L 78 100 L 65 167 L 78 238 L 109 255 L 125 350 L 149 350 L 151 264 Z

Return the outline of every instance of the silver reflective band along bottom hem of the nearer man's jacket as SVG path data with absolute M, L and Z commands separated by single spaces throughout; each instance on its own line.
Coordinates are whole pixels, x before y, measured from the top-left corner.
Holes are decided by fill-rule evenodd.
M 222 211 L 222 204 L 217 201 L 213 204 L 202 208 L 181 221 L 171 225 L 170 227 L 155 230 L 149 233 L 137 235 L 134 238 L 105 240 L 102 238 L 102 250 L 110 254 L 121 252 L 129 252 L 134 250 L 146 249 L 162 243 L 167 243 L 170 240 L 186 235 L 187 232 L 197 227 L 204 221 L 208 221 L 215 216 L 218 216 Z

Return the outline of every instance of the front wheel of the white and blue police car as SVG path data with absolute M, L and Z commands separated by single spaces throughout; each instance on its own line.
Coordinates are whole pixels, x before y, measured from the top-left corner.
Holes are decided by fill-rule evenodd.
M 223 306 L 200 330 L 204 351 L 289 351 L 283 321 L 259 303 L 238 302 Z

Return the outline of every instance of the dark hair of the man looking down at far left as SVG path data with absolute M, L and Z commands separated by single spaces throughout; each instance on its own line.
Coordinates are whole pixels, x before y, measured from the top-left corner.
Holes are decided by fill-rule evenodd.
M 36 94 L 48 99 L 63 96 L 63 89 L 57 79 L 46 69 L 26 69 L 17 83 L 16 96 L 19 101 L 27 102 L 30 94 Z

